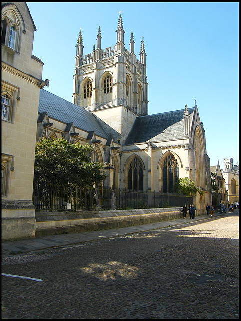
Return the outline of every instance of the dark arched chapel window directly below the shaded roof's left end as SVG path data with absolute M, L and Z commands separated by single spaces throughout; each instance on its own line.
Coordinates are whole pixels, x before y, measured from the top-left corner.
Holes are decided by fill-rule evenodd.
M 143 166 L 137 157 L 134 157 L 129 164 L 128 189 L 143 191 Z

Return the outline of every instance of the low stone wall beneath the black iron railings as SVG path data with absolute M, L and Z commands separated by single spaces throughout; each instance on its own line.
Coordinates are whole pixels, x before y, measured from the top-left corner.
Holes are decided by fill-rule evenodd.
M 36 212 L 36 237 L 107 230 L 173 220 L 182 217 L 180 207 L 81 212 Z

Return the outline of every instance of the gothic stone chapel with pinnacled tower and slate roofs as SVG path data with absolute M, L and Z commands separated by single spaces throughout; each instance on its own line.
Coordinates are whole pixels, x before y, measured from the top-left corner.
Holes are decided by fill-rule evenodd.
M 99 27 L 96 47 L 84 56 L 80 30 L 73 101 L 40 90 L 37 140 L 94 145 L 93 161 L 108 164 L 105 186 L 170 193 L 178 178 L 188 177 L 204 192 L 194 198 L 204 213 L 211 203 L 210 159 L 196 101 L 192 108 L 148 115 L 144 41 L 137 60 L 133 32 L 125 48 L 121 14 L 116 33 L 113 48 L 102 49 Z

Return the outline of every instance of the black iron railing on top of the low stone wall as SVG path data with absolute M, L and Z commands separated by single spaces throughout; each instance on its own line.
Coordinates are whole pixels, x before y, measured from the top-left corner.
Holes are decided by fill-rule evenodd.
M 192 196 L 176 193 L 46 183 L 33 185 L 33 204 L 36 211 L 41 212 L 182 207 L 190 203 L 193 204 Z

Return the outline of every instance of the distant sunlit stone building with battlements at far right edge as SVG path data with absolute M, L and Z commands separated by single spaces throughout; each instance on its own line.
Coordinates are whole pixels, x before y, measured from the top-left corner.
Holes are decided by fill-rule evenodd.
M 221 172 L 226 182 L 228 201 L 230 204 L 239 202 L 239 164 L 233 166 L 232 158 L 223 158 L 223 166 Z

